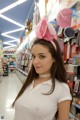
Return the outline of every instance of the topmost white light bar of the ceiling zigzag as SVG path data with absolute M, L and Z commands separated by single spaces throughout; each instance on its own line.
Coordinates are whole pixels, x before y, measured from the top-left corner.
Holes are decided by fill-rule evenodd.
M 17 5 L 20 5 L 20 4 L 24 3 L 24 2 L 26 2 L 26 1 L 27 0 L 18 0 L 17 2 L 15 2 L 15 3 L 11 4 L 11 5 L 8 5 L 7 7 L 1 9 L 0 13 L 4 13 L 4 12 L 6 12 L 6 11 L 16 7 Z

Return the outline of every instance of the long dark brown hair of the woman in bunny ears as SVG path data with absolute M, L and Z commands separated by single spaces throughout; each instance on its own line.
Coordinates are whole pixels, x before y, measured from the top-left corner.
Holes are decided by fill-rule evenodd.
M 49 91 L 49 94 L 51 94 L 54 91 L 55 78 L 60 82 L 66 83 L 66 71 L 64 68 L 64 62 L 63 62 L 63 58 L 62 58 L 61 49 L 56 40 L 53 40 L 53 42 L 56 46 L 56 49 L 52 45 L 51 42 L 46 41 L 44 39 L 39 39 L 39 38 L 36 38 L 36 40 L 34 41 L 34 43 L 32 45 L 32 47 L 33 47 L 36 44 L 40 44 L 40 45 L 47 47 L 49 49 L 49 52 L 51 53 L 52 58 L 54 58 L 56 61 L 55 63 L 52 64 L 52 67 L 51 67 L 52 87 L 51 87 L 51 90 Z M 39 76 L 38 73 L 36 73 L 34 66 L 32 65 L 30 72 L 27 76 L 27 79 L 26 79 L 25 83 L 23 84 L 20 92 L 18 93 L 15 101 L 22 95 L 22 93 L 32 83 L 32 81 L 35 78 L 38 78 L 38 76 Z M 15 101 L 13 102 L 13 106 L 15 104 Z

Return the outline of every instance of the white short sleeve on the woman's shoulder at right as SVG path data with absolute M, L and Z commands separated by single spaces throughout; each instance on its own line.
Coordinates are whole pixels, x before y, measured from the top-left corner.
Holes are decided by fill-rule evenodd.
M 65 83 L 61 83 L 61 89 L 58 96 L 58 103 L 65 100 L 72 100 L 72 96 L 70 93 L 69 86 Z

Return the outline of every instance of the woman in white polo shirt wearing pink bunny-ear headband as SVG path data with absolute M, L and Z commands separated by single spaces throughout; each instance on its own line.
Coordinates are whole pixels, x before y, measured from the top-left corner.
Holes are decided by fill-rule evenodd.
M 40 28 L 43 23 L 47 25 L 43 20 Z M 57 111 L 58 120 L 69 120 L 71 94 L 57 37 L 51 36 L 48 27 L 42 38 L 38 33 L 31 47 L 31 70 L 13 103 L 15 120 L 54 120 Z

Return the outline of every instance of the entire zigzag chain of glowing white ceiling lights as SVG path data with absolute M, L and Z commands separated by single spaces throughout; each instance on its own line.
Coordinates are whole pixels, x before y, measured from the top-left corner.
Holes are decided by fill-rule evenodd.
M 18 23 L 18 22 L 16 22 L 16 21 L 14 21 L 14 20 L 12 20 L 12 19 L 10 19 L 10 18 L 8 18 L 7 16 L 2 15 L 2 13 L 6 12 L 6 11 L 8 11 L 8 10 L 10 10 L 10 9 L 12 9 L 12 8 L 14 8 L 14 7 L 22 4 L 22 3 L 24 3 L 24 2 L 26 2 L 26 1 L 27 1 L 27 0 L 18 0 L 18 1 L 16 1 L 16 2 L 14 2 L 13 4 L 8 5 L 7 7 L 5 7 L 5 8 L 3 8 L 3 9 L 0 10 L 0 17 L 1 17 L 1 18 L 3 18 L 3 19 L 6 20 L 6 21 L 9 21 L 9 22 L 11 22 L 11 23 L 13 23 L 13 24 L 15 24 L 15 25 L 17 25 L 17 26 L 19 26 L 19 27 L 21 27 L 20 29 L 8 31 L 8 32 L 5 32 L 5 33 L 2 33 L 2 34 L 1 34 L 1 35 L 5 36 L 5 37 L 8 37 L 8 38 L 11 38 L 11 39 L 12 39 L 11 41 L 4 42 L 4 43 L 3 43 L 3 44 L 6 44 L 6 45 L 9 45 L 9 46 L 6 46 L 6 47 L 4 47 L 4 48 L 15 47 L 16 45 L 11 44 L 11 43 L 12 43 L 12 42 L 15 42 L 15 41 L 20 41 L 20 39 L 17 39 L 17 38 L 15 38 L 15 37 L 12 37 L 12 36 L 7 35 L 7 34 L 24 30 L 24 29 L 25 29 L 25 26 L 22 25 L 22 24 L 20 24 L 20 23 Z

